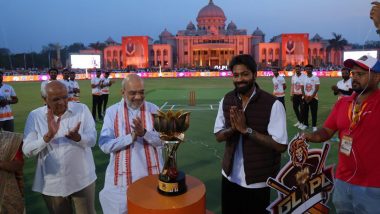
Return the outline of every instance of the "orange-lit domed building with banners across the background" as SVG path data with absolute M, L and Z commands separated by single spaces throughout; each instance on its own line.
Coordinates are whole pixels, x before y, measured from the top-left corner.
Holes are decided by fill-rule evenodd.
M 265 34 L 259 28 L 248 34 L 233 21 L 226 25 L 226 20 L 224 11 L 209 0 L 199 10 L 196 25 L 190 21 L 176 35 L 165 29 L 155 42 L 136 43 L 149 37 L 125 36 L 121 45 L 107 46 L 104 65 L 108 69 L 214 68 L 228 65 L 238 54 L 251 54 L 261 67 L 342 64 L 343 50 L 329 49 L 328 40 L 318 34 L 312 39 L 308 33 L 280 34 L 265 42 Z M 144 56 L 132 56 L 137 47 L 148 52 Z

